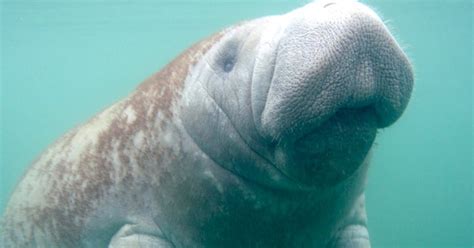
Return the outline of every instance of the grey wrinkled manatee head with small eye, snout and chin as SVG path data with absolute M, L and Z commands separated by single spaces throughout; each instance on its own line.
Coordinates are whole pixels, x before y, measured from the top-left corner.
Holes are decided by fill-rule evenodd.
M 220 35 L 186 79 L 181 119 L 218 166 L 259 184 L 344 181 L 410 98 L 407 57 L 358 2 L 316 1 Z

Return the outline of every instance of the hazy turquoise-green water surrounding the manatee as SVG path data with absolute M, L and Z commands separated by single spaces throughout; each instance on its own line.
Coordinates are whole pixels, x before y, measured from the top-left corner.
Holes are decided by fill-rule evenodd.
M 2 1 L 0 212 L 28 164 L 194 41 L 307 1 Z M 377 138 L 373 247 L 472 247 L 471 1 L 363 1 L 416 73 L 404 116 Z

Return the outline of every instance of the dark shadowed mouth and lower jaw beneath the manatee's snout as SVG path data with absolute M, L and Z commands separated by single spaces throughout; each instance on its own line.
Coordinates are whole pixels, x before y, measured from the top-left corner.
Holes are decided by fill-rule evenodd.
M 306 187 L 336 185 L 363 164 L 377 126 L 373 107 L 340 109 L 294 143 L 278 147 L 275 166 Z

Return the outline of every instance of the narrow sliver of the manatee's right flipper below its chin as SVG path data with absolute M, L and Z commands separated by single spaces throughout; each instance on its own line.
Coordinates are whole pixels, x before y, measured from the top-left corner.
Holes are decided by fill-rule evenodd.
M 370 248 L 364 194 L 355 202 L 346 223 L 329 243 L 328 248 Z

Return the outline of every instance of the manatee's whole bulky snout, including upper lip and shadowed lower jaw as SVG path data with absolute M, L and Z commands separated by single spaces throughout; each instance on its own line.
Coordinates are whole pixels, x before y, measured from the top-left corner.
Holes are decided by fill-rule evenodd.
M 407 106 L 413 73 L 380 18 L 352 1 L 314 2 L 288 13 L 266 102 L 254 108 L 275 165 L 310 185 L 350 176 L 378 128 Z M 259 108 L 260 107 L 260 108 Z

